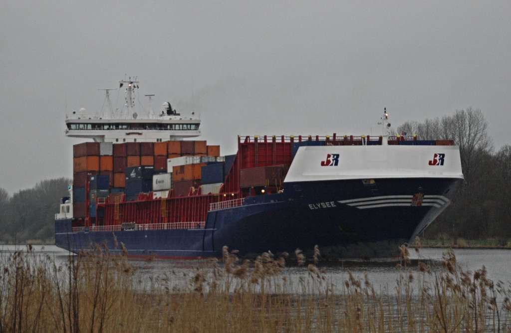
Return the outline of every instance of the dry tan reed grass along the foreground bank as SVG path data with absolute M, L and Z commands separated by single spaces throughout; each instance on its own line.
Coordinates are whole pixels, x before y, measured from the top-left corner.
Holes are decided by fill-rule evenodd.
M 281 274 L 287 253 L 248 261 L 224 247 L 222 263 L 205 261 L 186 283 L 174 272 L 149 284 L 136 280 L 126 255 L 102 246 L 61 266 L 29 248 L 0 259 L 0 332 L 511 331 L 509 285 L 484 267 L 463 271 L 452 250 L 436 272 L 410 267 L 408 248 L 399 250 L 395 291 L 377 293 L 351 273 L 335 286 L 318 268 L 317 247 L 294 282 Z M 295 259 L 305 266 L 300 250 Z

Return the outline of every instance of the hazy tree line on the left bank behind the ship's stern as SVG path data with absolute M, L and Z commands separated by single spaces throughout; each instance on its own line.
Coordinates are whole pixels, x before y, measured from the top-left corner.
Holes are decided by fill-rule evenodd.
M 12 197 L 0 188 L 0 242 L 54 244 L 55 213 L 70 183 L 68 178 L 43 180 Z

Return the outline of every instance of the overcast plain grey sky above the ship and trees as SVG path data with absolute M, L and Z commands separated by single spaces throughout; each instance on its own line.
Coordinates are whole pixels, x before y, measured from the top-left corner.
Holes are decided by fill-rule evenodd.
M 383 107 L 394 125 L 480 108 L 495 147 L 510 143 L 508 1 L 1 4 L 11 194 L 72 176 L 80 140 L 64 136 L 65 114 L 101 108 L 97 89 L 125 74 L 156 94 L 155 111 L 169 100 L 200 113 L 201 138 L 222 154 L 238 134 L 369 134 Z

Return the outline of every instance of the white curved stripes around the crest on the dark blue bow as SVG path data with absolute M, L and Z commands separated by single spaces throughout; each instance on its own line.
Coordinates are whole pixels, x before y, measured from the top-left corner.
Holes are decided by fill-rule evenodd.
M 412 199 L 413 196 L 380 196 L 340 200 L 338 202 L 359 209 L 366 209 L 391 206 L 413 206 Z M 428 195 L 423 197 L 422 202 L 420 202 L 420 206 L 434 206 L 439 208 L 449 203 L 450 200 L 444 196 Z

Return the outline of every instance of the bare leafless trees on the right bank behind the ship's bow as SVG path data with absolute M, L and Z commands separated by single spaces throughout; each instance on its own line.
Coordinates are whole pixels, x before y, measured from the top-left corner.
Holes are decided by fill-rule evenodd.
M 451 205 L 425 230 L 429 239 L 511 238 L 511 146 L 494 151 L 488 125 L 480 109 L 457 110 L 453 115 L 410 121 L 398 132 L 419 139 L 449 139 L 459 146 L 464 181 Z

